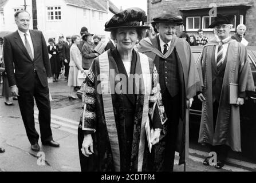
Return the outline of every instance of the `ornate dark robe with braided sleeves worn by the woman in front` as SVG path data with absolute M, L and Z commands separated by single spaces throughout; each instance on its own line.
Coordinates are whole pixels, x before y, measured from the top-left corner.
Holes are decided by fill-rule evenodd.
M 125 77 L 122 77 L 122 79 L 125 79 L 128 83 L 126 89 L 128 90 L 131 87 L 137 89 L 138 86 L 134 81 L 132 82 L 131 77 L 130 79 L 128 78 L 117 49 L 108 50 L 104 54 L 108 57 L 109 69 L 115 70 L 115 75 L 111 76 L 111 78 L 113 77 L 111 81 L 114 81 L 117 74 L 123 74 Z M 100 57 L 104 57 L 104 54 Z M 145 57 L 147 58 L 147 56 Z M 155 97 L 155 100 L 159 101 L 154 110 L 152 106 L 156 101 L 153 99 L 149 102 L 145 101 L 145 95 L 141 94 L 141 87 L 139 94 L 135 94 L 135 92 L 127 94 L 125 87 L 122 86 L 121 94 L 116 92 L 109 94 L 111 96 L 110 100 L 105 101 L 106 98 L 103 94 L 96 92 L 99 91 L 99 86 L 101 86 L 101 82 L 97 81 L 97 75 L 101 73 L 99 60 L 99 57 L 94 59 L 89 69 L 88 77 L 85 80 L 85 87 L 82 89 L 84 90 L 82 98 L 83 112 L 78 128 L 78 148 L 80 151 L 84 134 L 90 133 L 93 137 L 94 154 L 86 158 L 80 151 L 81 170 L 89 172 L 154 170 L 153 155 L 149 154 L 143 124 L 144 117 L 152 113 L 151 123 L 154 129 L 162 129 L 162 122 L 164 121 L 159 113 L 163 106 L 159 95 L 160 87 L 157 84 L 156 68 L 153 66 L 151 59 L 146 62 L 146 64 L 149 63 L 149 71 L 152 74 L 149 78 L 149 81 L 152 82 L 151 97 Z M 133 50 L 131 74 L 141 74 L 142 64 L 139 53 Z M 145 65 L 143 66 L 145 67 Z M 120 83 L 119 79 L 115 81 L 115 87 Z M 149 110 L 145 112 L 144 110 L 147 109 L 147 106 L 149 106 Z M 158 108 L 158 106 L 161 107 Z M 113 116 L 108 116 L 106 111 L 108 107 L 109 110 L 113 110 Z M 111 128 L 108 126 L 109 118 L 114 121 Z

